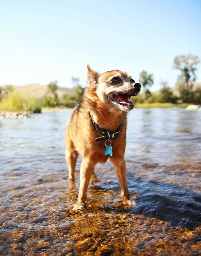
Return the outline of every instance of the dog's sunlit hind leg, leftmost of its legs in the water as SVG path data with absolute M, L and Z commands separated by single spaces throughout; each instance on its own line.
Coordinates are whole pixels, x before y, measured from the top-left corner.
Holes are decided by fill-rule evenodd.
M 78 152 L 75 150 L 72 142 L 66 146 L 66 162 L 69 169 L 69 180 L 71 182 L 75 181 L 75 166 L 78 159 Z

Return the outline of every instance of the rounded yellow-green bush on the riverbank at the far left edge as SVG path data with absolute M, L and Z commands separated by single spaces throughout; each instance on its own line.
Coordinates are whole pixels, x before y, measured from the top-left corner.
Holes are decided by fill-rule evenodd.
M 0 110 L 40 113 L 41 107 L 39 100 L 31 93 L 12 91 L 1 100 Z

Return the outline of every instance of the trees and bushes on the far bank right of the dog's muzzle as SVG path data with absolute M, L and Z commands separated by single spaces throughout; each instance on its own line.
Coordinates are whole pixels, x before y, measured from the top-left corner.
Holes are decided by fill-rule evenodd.
M 154 84 L 153 75 L 143 70 L 140 73 L 139 81 L 144 87 L 144 93 L 132 100 L 136 106 L 146 106 L 147 108 L 148 106 L 157 106 L 157 103 L 159 103 L 158 106 L 163 107 L 160 103 L 167 102 L 171 104 L 201 104 L 201 88 L 196 90 L 193 88 L 196 80 L 195 71 L 199 62 L 198 56 L 192 54 L 175 57 L 173 68 L 180 71 L 176 83 L 177 95 L 168 86 L 168 81 L 163 80 L 160 82 L 161 90 L 157 93 L 151 93 L 148 88 Z M 143 105 L 141 105 L 142 103 Z

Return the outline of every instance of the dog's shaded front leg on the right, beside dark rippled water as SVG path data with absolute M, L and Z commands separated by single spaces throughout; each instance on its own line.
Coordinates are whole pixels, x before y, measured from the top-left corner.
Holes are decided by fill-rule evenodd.
M 126 162 L 123 157 L 111 157 L 112 163 L 115 166 L 115 172 L 118 177 L 119 184 L 121 186 L 121 195 L 127 200 L 130 200 L 128 191 L 128 184 L 126 178 Z

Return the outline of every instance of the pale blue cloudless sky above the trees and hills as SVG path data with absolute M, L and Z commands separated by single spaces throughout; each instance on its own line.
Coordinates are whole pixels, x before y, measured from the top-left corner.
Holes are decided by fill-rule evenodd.
M 201 59 L 201 0 L 0 0 L 0 85 L 86 86 L 90 64 L 135 81 L 146 70 L 154 91 L 175 85 L 173 60 L 188 53 Z

